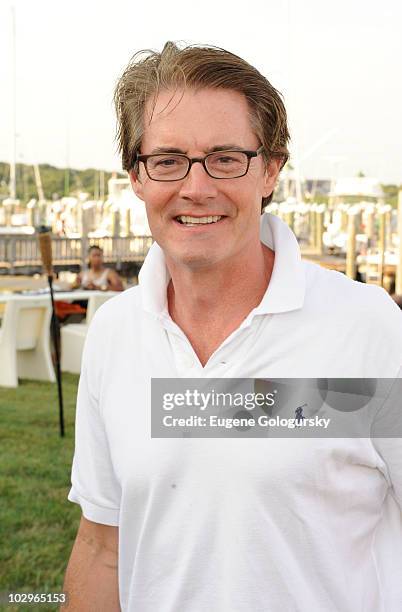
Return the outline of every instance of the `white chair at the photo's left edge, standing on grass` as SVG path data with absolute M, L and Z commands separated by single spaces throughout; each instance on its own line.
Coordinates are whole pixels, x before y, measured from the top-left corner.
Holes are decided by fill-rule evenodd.
M 55 382 L 51 316 L 47 299 L 13 297 L 7 301 L 0 328 L 0 386 L 17 387 L 18 378 Z

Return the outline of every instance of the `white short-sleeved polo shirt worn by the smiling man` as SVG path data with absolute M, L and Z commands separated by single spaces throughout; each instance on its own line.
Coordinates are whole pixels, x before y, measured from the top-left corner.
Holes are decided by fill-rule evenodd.
M 69 499 L 119 526 L 124 612 L 402 610 L 399 439 L 151 438 L 151 377 L 397 376 L 386 292 L 301 261 L 277 217 L 261 240 L 269 287 L 204 368 L 156 244 L 88 332 Z

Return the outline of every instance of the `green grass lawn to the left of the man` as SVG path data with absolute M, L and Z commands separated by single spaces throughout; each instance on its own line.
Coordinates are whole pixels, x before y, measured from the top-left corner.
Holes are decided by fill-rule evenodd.
M 63 375 L 65 437 L 57 387 L 0 388 L 0 593 L 60 592 L 81 510 L 67 500 L 78 376 Z M 57 610 L 57 605 L 0 610 Z

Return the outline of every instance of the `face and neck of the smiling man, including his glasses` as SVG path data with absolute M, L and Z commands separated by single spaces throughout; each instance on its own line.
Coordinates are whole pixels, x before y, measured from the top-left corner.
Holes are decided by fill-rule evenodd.
M 270 157 L 231 89 L 161 91 L 145 125 L 131 182 L 171 276 L 170 315 L 205 365 L 266 291 L 274 253 L 259 240 L 261 202 L 286 154 Z

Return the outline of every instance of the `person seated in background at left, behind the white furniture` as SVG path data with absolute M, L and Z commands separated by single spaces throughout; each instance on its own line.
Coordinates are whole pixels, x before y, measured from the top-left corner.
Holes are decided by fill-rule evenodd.
M 123 291 L 123 282 L 112 268 L 103 262 L 103 250 L 98 246 L 88 249 L 88 269 L 77 276 L 75 287 L 100 291 Z

